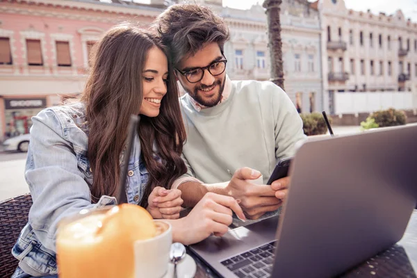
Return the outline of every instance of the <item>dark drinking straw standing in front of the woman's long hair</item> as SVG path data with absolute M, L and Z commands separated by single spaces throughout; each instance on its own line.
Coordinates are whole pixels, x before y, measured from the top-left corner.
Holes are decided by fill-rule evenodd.
M 129 167 L 129 158 L 131 156 L 133 140 L 135 138 L 136 129 L 138 128 L 138 122 L 139 117 L 136 115 L 131 115 L 129 120 L 128 133 L 126 137 L 126 149 L 124 149 L 123 165 L 122 170 L 120 171 L 120 186 L 117 191 L 117 204 L 127 203 L 126 175 L 127 168 Z

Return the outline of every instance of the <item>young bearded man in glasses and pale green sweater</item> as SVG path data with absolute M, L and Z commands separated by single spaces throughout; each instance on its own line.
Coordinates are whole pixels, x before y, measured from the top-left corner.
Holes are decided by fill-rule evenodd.
M 305 138 L 291 100 L 269 81 L 230 81 L 223 51 L 229 30 L 209 8 L 173 5 L 154 27 L 187 92 L 181 109 L 188 131 L 183 147 L 188 172 L 173 184 L 184 204 L 194 206 L 213 192 L 238 199 L 248 218 L 277 210 L 289 178 L 265 183 L 277 160 L 293 156 Z M 261 185 L 254 184 L 261 175 Z

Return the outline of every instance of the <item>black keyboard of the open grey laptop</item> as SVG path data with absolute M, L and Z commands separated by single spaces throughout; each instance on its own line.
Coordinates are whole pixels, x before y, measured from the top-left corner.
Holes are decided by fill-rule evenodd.
M 275 257 L 275 241 L 255 247 L 229 259 L 221 261 L 239 278 L 270 277 Z

